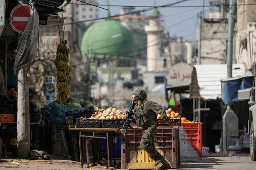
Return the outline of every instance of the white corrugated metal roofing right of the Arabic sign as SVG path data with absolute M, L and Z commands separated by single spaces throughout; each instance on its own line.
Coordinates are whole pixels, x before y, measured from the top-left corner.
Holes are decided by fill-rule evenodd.
M 198 86 L 200 88 L 199 90 L 200 96 L 197 96 L 197 97 L 202 97 L 204 99 L 214 99 L 214 100 L 217 98 L 220 98 L 221 97 L 220 96 L 221 95 L 220 80 L 228 77 L 227 64 L 200 64 L 200 65 L 194 65 L 194 68 L 196 69 L 195 78 L 197 77 L 197 80 L 193 80 L 194 78 L 193 76 L 191 83 L 198 83 Z M 243 64 L 232 65 L 232 77 L 244 76 L 245 74 L 246 74 L 246 70 Z M 194 94 L 196 94 L 196 92 Z

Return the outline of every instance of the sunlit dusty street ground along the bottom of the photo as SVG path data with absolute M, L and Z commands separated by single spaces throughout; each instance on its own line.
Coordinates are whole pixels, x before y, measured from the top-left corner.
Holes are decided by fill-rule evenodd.
M 252 170 L 256 167 L 256 161 L 250 159 L 249 154 L 206 154 L 202 158 L 181 158 L 180 168 L 177 170 Z M 120 160 L 116 160 L 118 162 Z M 143 167 L 138 167 L 142 169 Z M 27 159 L 0 159 L 0 170 L 106 170 L 107 166 L 92 166 L 81 168 L 79 161 L 72 161 L 65 156 L 50 155 L 50 160 Z M 116 168 L 117 170 L 120 168 Z

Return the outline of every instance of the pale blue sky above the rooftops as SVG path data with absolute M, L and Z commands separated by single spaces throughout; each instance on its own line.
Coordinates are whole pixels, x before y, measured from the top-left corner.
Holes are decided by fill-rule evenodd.
M 150 7 L 163 6 L 180 1 L 184 0 L 109 0 L 109 10 L 110 15 L 113 16 L 120 13 L 120 9 L 122 9 L 121 6 L 136 6 L 136 10 L 144 10 Z M 198 14 L 200 11 L 204 10 L 204 16 L 207 17 L 210 9 L 218 9 L 217 7 L 210 8 L 209 1 L 210 0 L 186 0 L 170 7 L 157 8 L 160 12 L 165 32 L 168 31 L 170 37 L 183 37 L 188 41 L 195 42 L 196 29 L 199 27 Z M 98 6 L 107 8 L 105 6 L 106 4 L 107 0 L 98 0 Z M 107 11 L 102 8 L 98 8 L 99 18 L 105 17 L 107 13 Z M 149 15 L 149 11 L 145 12 L 145 15 Z

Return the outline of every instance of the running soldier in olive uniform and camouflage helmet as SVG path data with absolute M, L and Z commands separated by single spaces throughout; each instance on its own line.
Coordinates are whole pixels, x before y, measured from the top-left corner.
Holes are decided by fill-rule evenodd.
M 155 161 L 155 166 L 162 163 L 160 168 L 156 168 L 157 170 L 167 170 L 170 169 L 171 166 L 166 162 L 164 156 L 155 149 L 154 137 L 157 133 L 157 114 L 159 113 L 166 122 L 168 122 L 170 118 L 166 115 L 164 107 L 156 102 L 148 101 L 146 98 L 147 94 L 143 89 L 136 88 L 132 90 L 132 100 L 137 103 L 134 107 L 133 123 L 142 127 L 143 131 L 140 147 Z

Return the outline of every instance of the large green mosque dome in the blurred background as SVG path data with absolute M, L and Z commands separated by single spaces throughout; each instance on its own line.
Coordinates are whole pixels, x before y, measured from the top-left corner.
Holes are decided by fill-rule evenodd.
M 82 37 L 81 52 L 84 56 L 92 55 L 129 55 L 134 49 L 134 39 L 131 31 L 115 20 L 102 20 L 90 26 Z

